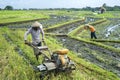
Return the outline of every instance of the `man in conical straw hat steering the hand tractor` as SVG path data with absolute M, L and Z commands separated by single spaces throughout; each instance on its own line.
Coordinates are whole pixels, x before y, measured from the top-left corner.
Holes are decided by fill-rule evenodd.
M 28 31 L 26 31 L 25 35 L 24 35 L 24 41 L 25 44 L 27 44 L 27 36 L 28 34 L 31 34 L 32 36 L 32 44 L 34 46 L 41 46 L 42 43 L 41 41 L 44 41 L 44 31 L 43 31 L 43 27 L 42 24 L 40 24 L 39 22 L 34 22 L 31 27 L 28 29 Z M 42 35 L 42 40 L 40 39 L 40 34 Z M 36 48 L 33 48 L 34 50 L 34 55 L 36 56 L 36 59 L 38 60 L 39 55 L 41 54 L 40 51 L 38 51 Z

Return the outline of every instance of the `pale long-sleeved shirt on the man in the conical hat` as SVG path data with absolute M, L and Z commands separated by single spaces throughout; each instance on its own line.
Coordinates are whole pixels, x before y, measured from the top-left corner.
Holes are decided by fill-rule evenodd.
M 29 28 L 28 31 L 24 35 L 24 40 L 27 40 L 28 34 L 32 35 L 32 43 L 35 45 L 41 42 L 40 34 L 42 34 L 42 39 L 44 39 L 44 31 L 42 29 L 42 26 L 40 26 L 37 31 L 32 29 L 32 27 Z

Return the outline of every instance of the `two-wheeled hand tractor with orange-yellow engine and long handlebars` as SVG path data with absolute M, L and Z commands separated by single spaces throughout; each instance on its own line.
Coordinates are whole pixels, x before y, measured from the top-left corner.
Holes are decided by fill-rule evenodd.
M 29 46 L 38 49 L 43 55 L 42 63 L 37 66 L 40 71 L 40 80 L 44 79 L 50 72 L 57 74 L 60 72 L 71 72 L 76 69 L 75 63 L 67 56 L 68 49 L 51 52 L 45 42 L 44 44 L 45 46 L 36 47 L 28 43 Z M 44 53 L 46 51 L 49 55 Z

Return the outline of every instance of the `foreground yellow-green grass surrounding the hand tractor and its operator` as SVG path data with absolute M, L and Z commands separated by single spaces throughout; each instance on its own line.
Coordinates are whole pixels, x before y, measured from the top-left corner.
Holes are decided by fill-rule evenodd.
M 0 79 L 2 80 L 39 80 L 39 73 L 34 73 L 28 63 L 31 62 L 32 65 L 39 64 L 33 55 L 33 50 L 24 44 L 24 33 L 25 30 L 21 29 L 0 28 L 0 34 L 2 34 L 0 35 L 0 41 L 4 43 L 0 43 L 0 70 L 2 70 Z M 6 40 L 3 34 L 6 34 L 10 40 Z M 29 36 L 28 39 L 30 40 L 31 37 Z M 45 41 L 51 51 L 65 48 L 50 36 L 46 36 Z M 15 50 L 16 46 L 24 52 L 24 56 L 18 54 Z M 28 62 L 24 59 L 25 56 L 27 56 Z M 115 74 L 86 62 L 71 51 L 68 56 L 77 63 L 77 69 L 71 74 L 60 73 L 56 77 L 51 74 L 52 80 L 69 80 L 70 77 L 73 77 L 74 80 L 119 80 Z

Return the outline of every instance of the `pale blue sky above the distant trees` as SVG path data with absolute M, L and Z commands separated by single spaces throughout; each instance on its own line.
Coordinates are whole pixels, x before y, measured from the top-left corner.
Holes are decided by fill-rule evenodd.
M 120 6 L 120 0 L 0 0 L 0 8 L 6 5 L 13 6 L 14 9 L 29 8 L 83 8 L 100 7 L 104 3 L 108 6 Z

